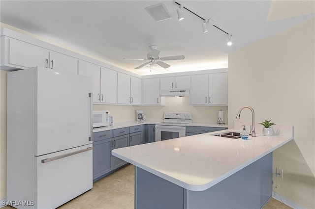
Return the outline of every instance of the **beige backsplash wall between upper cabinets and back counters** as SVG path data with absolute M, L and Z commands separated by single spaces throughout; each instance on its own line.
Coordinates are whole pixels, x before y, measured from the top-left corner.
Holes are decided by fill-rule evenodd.
M 227 106 L 191 106 L 189 97 L 166 97 L 165 106 L 131 106 L 94 104 L 94 110 L 108 110 L 114 123 L 135 120 L 137 109 L 144 110 L 145 120 L 163 121 L 164 112 L 191 112 L 192 122 L 217 123 L 219 110 L 222 109 L 224 123 L 227 124 Z

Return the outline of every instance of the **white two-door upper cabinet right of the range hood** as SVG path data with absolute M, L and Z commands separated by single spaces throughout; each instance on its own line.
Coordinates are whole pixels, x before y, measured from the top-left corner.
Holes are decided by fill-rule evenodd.
M 227 105 L 227 73 L 191 76 L 192 105 Z

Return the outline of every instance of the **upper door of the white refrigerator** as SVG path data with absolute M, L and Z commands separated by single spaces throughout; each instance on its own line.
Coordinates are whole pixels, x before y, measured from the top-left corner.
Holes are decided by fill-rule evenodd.
M 92 78 L 41 68 L 35 76 L 34 155 L 89 144 Z

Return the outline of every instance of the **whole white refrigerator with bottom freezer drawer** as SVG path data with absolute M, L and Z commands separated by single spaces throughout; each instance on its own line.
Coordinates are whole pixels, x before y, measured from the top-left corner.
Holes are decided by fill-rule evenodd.
M 93 187 L 92 78 L 7 75 L 7 203 L 57 208 Z

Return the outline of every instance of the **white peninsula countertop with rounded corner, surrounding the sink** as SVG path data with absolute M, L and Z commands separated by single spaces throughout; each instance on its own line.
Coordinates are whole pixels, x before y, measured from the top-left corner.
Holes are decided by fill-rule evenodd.
M 192 191 L 203 191 L 293 139 L 293 127 L 279 135 L 248 140 L 215 136 L 228 129 L 115 149 L 119 157 L 139 168 Z M 238 132 L 240 132 L 238 130 Z

